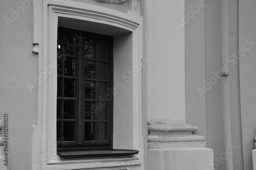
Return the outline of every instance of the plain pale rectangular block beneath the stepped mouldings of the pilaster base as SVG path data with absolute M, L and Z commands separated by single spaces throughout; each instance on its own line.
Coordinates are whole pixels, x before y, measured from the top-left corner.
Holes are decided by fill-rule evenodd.
M 148 149 L 150 170 L 214 170 L 214 151 L 208 148 Z

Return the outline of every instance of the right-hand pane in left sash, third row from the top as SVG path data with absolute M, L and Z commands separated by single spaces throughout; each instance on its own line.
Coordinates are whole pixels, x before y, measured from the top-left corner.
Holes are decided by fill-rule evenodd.
M 67 98 L 76 97 L 76 80 L 64 79 L 64 96 Z

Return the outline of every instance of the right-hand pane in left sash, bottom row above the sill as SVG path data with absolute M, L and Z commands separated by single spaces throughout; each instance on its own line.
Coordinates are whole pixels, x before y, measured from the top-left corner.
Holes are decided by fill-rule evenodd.
M 75 141 L 75 122 L 63 122 L 63 141 Z

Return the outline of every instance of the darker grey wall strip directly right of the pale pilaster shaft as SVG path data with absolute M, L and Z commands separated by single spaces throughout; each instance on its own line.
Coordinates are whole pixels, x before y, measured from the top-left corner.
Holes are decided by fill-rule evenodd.
M 186 123 L 199 128 L 207 140 L 205 80 L 205 7 L 198 0 L 185 1 L 185 14 L 195 17 L 185 25 Z

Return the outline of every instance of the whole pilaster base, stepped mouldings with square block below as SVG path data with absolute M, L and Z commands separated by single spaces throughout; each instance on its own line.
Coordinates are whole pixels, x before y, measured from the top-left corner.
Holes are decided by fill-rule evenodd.
M 214 170 L 213 150 L 190 124 L 148 124 L 150 170 Z

